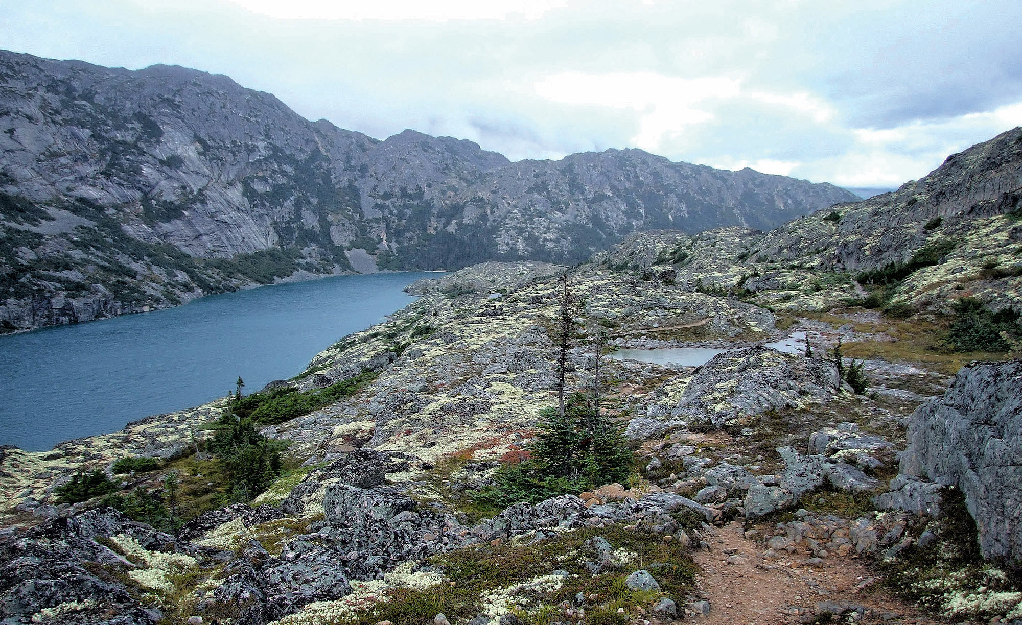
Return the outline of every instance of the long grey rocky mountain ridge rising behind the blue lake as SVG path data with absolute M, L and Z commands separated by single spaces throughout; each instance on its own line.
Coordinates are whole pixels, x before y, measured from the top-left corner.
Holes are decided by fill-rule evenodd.
M 771 228 L 854 197 L 639 150 L 511 163 L 414 131 L 378 141 L 224 76 L 11 52 L 0 126 L 5 331 L 290 277 L 576 262 L 635 230 Z

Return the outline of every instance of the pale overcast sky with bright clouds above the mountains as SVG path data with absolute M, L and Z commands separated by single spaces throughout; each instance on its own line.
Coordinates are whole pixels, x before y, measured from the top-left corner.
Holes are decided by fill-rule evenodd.
M 896 187 L 1022 125 L 1019 0 L 3 0 L 0 48 L 180 64 L 385 138 Z

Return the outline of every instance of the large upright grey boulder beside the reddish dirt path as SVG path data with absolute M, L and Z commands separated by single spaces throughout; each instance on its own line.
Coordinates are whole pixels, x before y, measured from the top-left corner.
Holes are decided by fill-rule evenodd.
M 900 472 L 955 484 L 986 558 L 1022 560 L 1022 360 L 972 363 L 909 422 Z M 904 490 L 914 480 L 898 476 Z

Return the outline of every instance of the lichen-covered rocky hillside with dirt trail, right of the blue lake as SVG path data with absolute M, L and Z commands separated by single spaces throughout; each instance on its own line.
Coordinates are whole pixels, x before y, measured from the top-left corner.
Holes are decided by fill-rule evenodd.
M 1015 129 L 766 232 L 423 280 L 292 380 L 4 449 L 4 623 L 1017 623 L 1020 193 Z M 562 376 L 621 479 L 528 481 Z

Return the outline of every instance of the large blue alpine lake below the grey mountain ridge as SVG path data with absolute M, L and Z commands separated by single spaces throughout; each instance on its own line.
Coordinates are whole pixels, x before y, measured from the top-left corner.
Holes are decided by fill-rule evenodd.
M 437 274 L 337 276 L 0 337 L 0 444 L 44 450 L 300 373 Z

